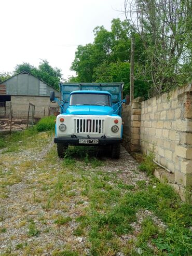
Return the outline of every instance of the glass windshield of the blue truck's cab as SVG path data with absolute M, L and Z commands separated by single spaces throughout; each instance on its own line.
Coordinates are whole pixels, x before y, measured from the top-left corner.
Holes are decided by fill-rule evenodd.
M 111 96 L 99 93 L 74 93 L 70 97 L 70 105 L 111 106 Z

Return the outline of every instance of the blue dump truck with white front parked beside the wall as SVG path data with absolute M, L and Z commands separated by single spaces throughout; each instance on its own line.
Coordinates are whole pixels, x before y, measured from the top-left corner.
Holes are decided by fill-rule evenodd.
M 123 83 L 64 83 L 60 84 L 60 114 L 56 120 L 59 157 L 68 145 L 108 146 L 112 158 L 119 158 L 122 142 L 121 106 Z

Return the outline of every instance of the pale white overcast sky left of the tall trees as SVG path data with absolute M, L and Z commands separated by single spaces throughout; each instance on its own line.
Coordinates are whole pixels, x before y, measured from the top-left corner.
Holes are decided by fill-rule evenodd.
M 77 45 L 93 42 L 95 26 L 124 20 L 123 8 L 124 0 L 0 0 L 0 72 L 47 59 L 64 78 L 74 75 Z

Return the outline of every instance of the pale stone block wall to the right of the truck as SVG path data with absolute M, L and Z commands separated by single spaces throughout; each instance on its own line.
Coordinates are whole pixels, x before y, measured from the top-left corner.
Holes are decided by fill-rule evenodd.
M 129 144 L 126 147 L 130 151 L 136 151 L 139 140 L 141 152 L 153 152 L 157 163 L 174 173 L 175 188 L 184 193 L 192 185 L 191 85 L 136 101 L 123 108 L 124 123 L 129 127 L 125 127 L 124 144 Z

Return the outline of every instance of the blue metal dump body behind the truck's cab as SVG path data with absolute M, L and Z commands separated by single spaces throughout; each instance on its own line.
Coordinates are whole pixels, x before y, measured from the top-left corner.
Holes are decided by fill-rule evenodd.
M 96 90 L 96 91 L 108 91 L 112 95 L 113 105 L 122 99 L 123 83 L 64 83 L 60 84 L 61 100 L 64 102 L 62 107 L 63 113 L 66 112 L 68 107 L 68 100 L 70 93 L 77 90 Z M 118 108 L 118 105 L 114 106 L 114 110 Z

